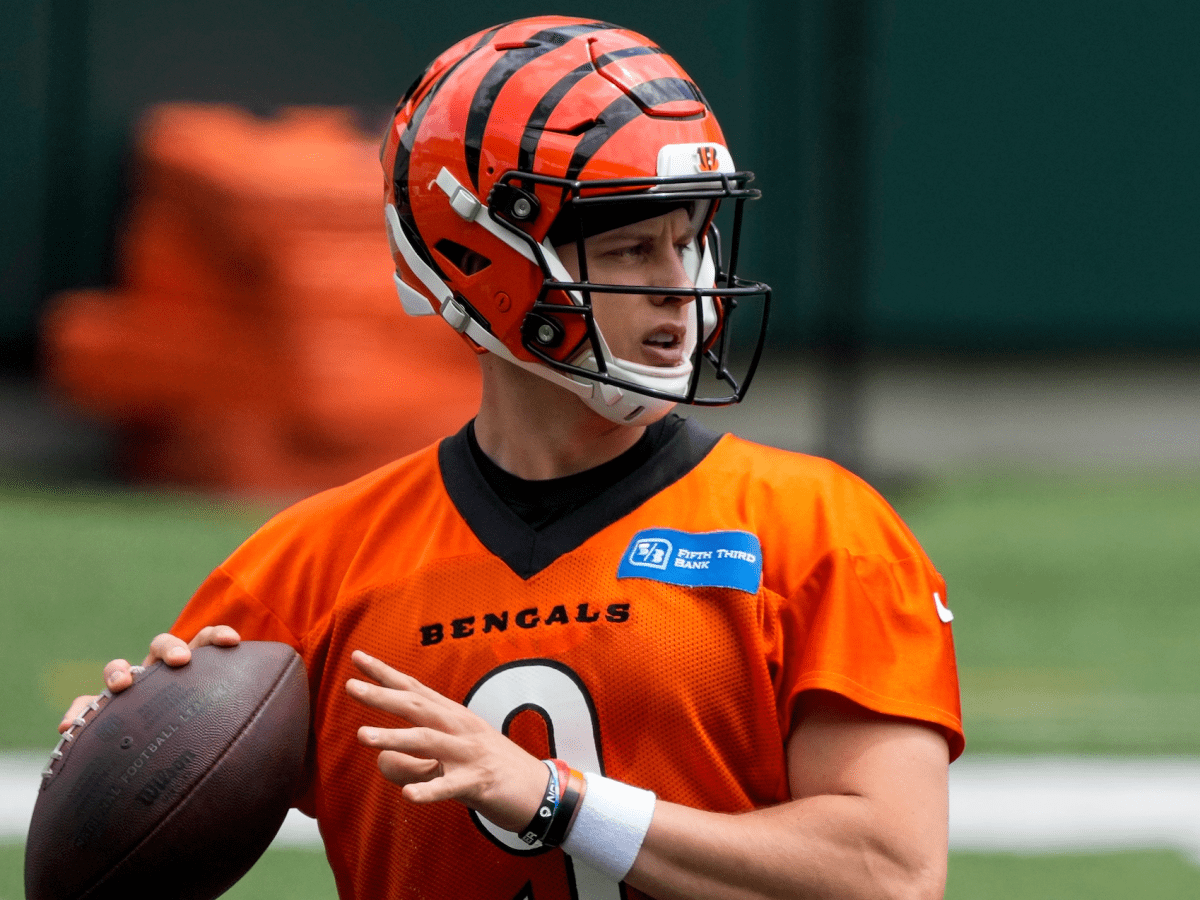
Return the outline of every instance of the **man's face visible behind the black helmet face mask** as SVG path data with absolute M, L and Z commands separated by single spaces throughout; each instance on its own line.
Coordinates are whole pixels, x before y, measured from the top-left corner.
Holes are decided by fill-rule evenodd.
M 606 284 L 694 287 L 685 257 L 692 257 L 696 228 L 688 210 L 595 234 L 584 241 L 588 281 Z M 574 244 L 557 247 L 578 281 Z M 592 310 L 613 356 L 646 366 L 679 366 L 696 346 L 696 312 L 690 296 L 592 292 Z

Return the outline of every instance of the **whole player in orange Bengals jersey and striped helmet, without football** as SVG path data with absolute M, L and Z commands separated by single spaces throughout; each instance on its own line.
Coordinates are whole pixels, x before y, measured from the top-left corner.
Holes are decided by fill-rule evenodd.
M 512 22 L 380 157 L 400 300 L 479 354 L 479 413 L 275 517 L 148 661 L 302 655 L 343 898 L 941 896 L 944 583 L 850 473 L 674 412 L 742 398 L 769 304 L 697 86 L 625 29 Z

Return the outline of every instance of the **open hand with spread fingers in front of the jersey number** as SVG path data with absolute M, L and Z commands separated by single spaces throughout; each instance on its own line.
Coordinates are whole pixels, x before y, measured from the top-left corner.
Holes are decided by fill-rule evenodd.
M 379 751 L 379 772 L 413 803 L 458 800 L 500 828 L 524 828 L 538 811 L 550 772 L 461 703 L 361 650 L 354 665 L 372 679 L 352 678 L 347 692 L 410 727 L 359 728 Z

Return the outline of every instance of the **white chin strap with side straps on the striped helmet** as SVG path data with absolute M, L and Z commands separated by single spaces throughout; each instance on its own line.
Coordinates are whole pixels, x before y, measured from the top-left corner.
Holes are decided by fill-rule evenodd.
M 534 265 L 538 265 L 538 260 L 534 258 L 533 252 L 520 238 L 514 235 L 502 224 L 496 222 L 488 214 L 487 206 L 480 203 L 466 187 L 458 184 L 457 179 L 445 168 L 442 169 L 437 179 L 437 185 L 445 192 L 451 209 L 462 216 L 468 222 L 474 222 L 475 224 L 485 228 L 491 234 L 493 234 L 499 240 L 504 241 L 509 247 L 521 253 L 526 259 L 528 259 Z M 626 425 L 637 425 L 641 422 L 653 422 L 666 415 L 672 407 L 676 406 L 677 401 L 673 400 L 661 400 L 658 397 L 649 397 L 643 394 L 638 394 L 632 390 L 618 388 L 616 385 L 601 384 L 600 382 L 593 382 L 588 378 L 575 377 L 568 374 L 566 372 L 560 372 L 552 368 L 545 362 L 530 362 L 528 360 L 520 359 L 505 347 L 499 338 L 496 337 L 491 331 L 485 329 L 478 322 L 475 322 L 467 313 L 467 310 L 454 298 L 454 293 L 450 288 L 438 277 L 437 272 L 421 259 L 420 254 L 413 247 L 408 236 L 404 234 L 404 229 L 400 224 L 400 214 L 392 204 L 386 204 L 384 206 L 384 215 L 386 217 L 388 226 L 388 239 L 391 242 L 391 248 L 394 253 L 400 253 L 404 262 L 408 264 L 409 270 L 416 278 L 421 282 L 430 294 L 437 299 L 438 308 L 434 308 L 430 299 L 404 282 L 396 272 L 392 277 L 396 283 L 396 293 L 400 295 L 400 301 L 404 307 L 404 312 L 409 316 L 440 316 L 445 322 L 461 335 L 466 335 L 476 344 L 482 347 L 488 353 L 494 353 L 502 359 L 508 360 L 515 366 L 533 372 L 540 378 L 565 388 L 582 400 L 588 407 L 594 412 L 602 415 L 613 422 L 622 422 Z M 550 274 L 552 277 L 559 281 L 572 282 L 570 272 L 562 264 L 558 258 L 558 253 L 550 244 L 542 244 L 542 253 L 546 257 L 546 262 L 550 266 Z M 712 253 L 697 253 L 700 256 L 700 264 L 696 268 L 695 284 L 697 287 L 712 287 L 714 281 L 714 266 Z M 583 299 L 577 292 L 565 290 L 565 293 L 577 306 L 583 305 Z M 712 334 L 713 328 L 716 325 L 716 314 L 713 310 L 713 299 L 703 298 L 702 301 L 703 322 L 704 322 L 704 338 Z M 614 378 L 629 382 L 630 384 L 641 385 L 650 390 L 658 390 L 668 394 L 683 395 L 688 391 L 688 383 L 691 378 L 691 358 L 690 350 L 695 347 L 695 319 L 689 318 L 688 326 L 688 349 L 689 356 L 678 366 L 661 367 L 661 366 L 646 366 L 640 362 L 630 362 L 629 360 L 616 359 L 608 349 L 608 344 L 604 340 L 604 335 L 596 329 L 596 334 L 600 338 L 601 355 L 605 360 L 605 368 L 608 374 Z M 599 371 L 595 361 L 595 354 L 593 353 L 590 346 L 584 349 L 576 359 L 570 361 L 571 365 L 578 366 L 581 368 Z

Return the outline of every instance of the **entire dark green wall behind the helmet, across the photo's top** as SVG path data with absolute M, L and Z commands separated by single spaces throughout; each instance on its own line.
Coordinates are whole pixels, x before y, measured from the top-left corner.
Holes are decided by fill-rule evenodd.
M 547 7 L 696 77 L 767 193 L 742 268 L 776 346 L 1200 349 L 1196 4 L 4 0 L 0 368 L 48 295 L 114 277 L 148 104 L 373 125 L 452 41 Z

